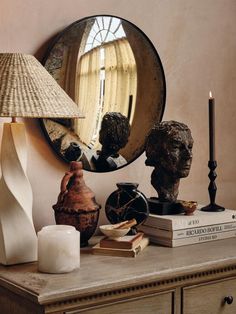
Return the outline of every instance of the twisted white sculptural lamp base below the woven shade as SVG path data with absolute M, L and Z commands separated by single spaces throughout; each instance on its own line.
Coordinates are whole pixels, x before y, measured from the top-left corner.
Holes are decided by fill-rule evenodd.
M 4 265 L 37 260 L 33 197 L 26 162 L 24 124 L 4 123 L 0 180 L 0 263 Z

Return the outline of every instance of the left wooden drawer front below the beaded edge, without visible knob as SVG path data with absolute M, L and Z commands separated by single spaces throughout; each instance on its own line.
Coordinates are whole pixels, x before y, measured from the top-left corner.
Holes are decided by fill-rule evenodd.
M 94 306 L 90 309 L 70 310 L 65 314 L 172 314 L 172 302 L 174 292 L 153 294 L 127 301 Z

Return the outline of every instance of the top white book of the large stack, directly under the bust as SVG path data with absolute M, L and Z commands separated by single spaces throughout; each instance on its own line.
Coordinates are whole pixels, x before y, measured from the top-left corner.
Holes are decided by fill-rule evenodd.
M 149 214 L 145 226 L 165 229 L 179 230 L 193 227 L 202 227 L 220 223 L 236 222 L 236 211 L 225 209 L 223 212 L 203 212 L 197 209 L 194 215 L 155 215 Z

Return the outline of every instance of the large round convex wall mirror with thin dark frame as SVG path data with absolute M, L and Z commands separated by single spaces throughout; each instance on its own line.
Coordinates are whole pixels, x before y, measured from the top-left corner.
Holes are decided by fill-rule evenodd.
M 84 115 L 41 121 L 63 160 L 107 172 L 143 153 L 162 119 L 166 86 L 159 55 L 137 26 L 106 15 L 76 21 L 55 38 L 43 64 Z

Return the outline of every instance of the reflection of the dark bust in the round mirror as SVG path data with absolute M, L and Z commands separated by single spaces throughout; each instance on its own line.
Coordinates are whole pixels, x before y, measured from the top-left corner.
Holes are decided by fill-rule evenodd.
M 130 135 L 127 117 L 120 112 L 108 112 L 104 115 L 99 132 L 101 151 L 92 157 L 97 171 L 110 171 L 127 163 L 118 152 L 125 147 Z

